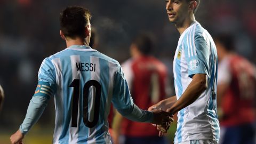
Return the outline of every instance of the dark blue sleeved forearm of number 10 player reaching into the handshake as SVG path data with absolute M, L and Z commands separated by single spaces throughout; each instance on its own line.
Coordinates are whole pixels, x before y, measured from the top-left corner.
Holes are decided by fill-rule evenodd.
M 138 108 L 138 106 L 136 106 L 135 104 L 130 107 L 122 109 L 119 108 L 117 110 L 122 116 L 130 119 L 131 121 L 148 123 L 153 122 L 153 113 L 147 110 L 142 110 Z

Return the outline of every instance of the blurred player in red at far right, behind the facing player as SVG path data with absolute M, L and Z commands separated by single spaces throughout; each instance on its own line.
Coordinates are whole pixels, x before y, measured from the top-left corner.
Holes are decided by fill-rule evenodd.
M 214 40 L 219 57 L 220 143 L 254 143 L 256 68 L 233 52 L 233 36 L 220 34 Z

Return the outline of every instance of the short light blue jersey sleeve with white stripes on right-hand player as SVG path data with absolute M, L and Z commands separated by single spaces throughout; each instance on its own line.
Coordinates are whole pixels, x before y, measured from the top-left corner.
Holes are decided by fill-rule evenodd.
M 185 50 L 188 64 L 188 76 L 192 78 L 195 74 L 209 75 L 210 47 L 202 35 L 195 35 L 193 44 L 188 44 Z

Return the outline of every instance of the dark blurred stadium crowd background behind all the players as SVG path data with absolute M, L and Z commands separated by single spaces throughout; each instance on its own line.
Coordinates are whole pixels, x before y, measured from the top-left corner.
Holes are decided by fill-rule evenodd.
M 154 37 L 154 55 L 169 68 L 179 39 L 167 19 L 164 0 L 0 0 L 0 84 L 5 101 L 0 113 L 0 144 L 9 142 L 26 115 L 37 84 L 37 72 L 45 57 L 65 49 L 59 36 L 59 12 L 68 5 L 87 7 L 97 29 L 102 53 L 123 62 L 134 36 L 142 31 Z M 196 19 L 210 34 L 232 33 L 236 52 L 256 63 L 256 1 L 202 0 Z M 174 93 L 174 92 L 173 92 Z M 54 129 L 54 100 L 51 99 L 25 143 L 51 143 Z M 168 137 L 173 141 L 175 123 Z

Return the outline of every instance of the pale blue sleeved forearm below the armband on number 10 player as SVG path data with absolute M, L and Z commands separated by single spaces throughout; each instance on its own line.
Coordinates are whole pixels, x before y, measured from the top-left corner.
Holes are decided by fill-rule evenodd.
M 20 125 L 20 131 L 22 134 L 26 134 L 31 127 L 41 117 L 45 107 L 47 106 L 48 99 L 46 97 L 36 96 L 30 100 L 26 117 L 23 123 Z

